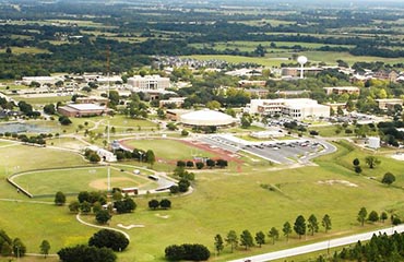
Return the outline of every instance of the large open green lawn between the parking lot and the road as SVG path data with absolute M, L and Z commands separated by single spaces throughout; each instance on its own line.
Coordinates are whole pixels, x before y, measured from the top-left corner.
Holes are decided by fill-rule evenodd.
M 278 190 L 270 191 L 262 184 L 272 184 Z M 164 261 L 164 248 L 168 245 L 200 242 L 213 251 L 214 236 L 221 234 L 225 237 L 230 229 L 238 234 L 243 229 L 253 235 L 259 230 L 266 234 L 273 226 L 281 230 L 286 221 L 293 224 L 299 214 L 306 218 L 314 214 L 319 221 L 324 214 L 331 216 L 333 229 L 326 235 L 321 228 L 319 234 L 308 236 L 305 241 L 292 234 L 288 243 L 281 236 L 274 246 L 265 245 L 248 252 L 240 248 L 233 254 L 227 247 L 221 257 L 214 259 L 228 261 L 383 226 L 381 223 L 359 226 L 357 212 L 361 206 L 369 212 L 400 207 L 402 193 L 401 189 L 357 176 L 334 163 L 278 171 L 261 168 L 242 175 L 213 171 L 198 174 L 195 191 L 191 195 L 173 199 L 173 210 L 148 211 L 148 200 L 136 200 L 139 209 L 135 215 L 116 216 L 112 224 L 145 226 L 128 230 L 135 251 L 120 254 L 119 261 L 129 262 L 133 258 L 136 261 Z

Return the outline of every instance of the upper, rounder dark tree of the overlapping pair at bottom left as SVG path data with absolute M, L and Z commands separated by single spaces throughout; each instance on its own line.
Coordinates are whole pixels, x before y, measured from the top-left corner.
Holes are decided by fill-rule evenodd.
M 88 246 L 110 248 L 114 251 L 123 251 L 129 245 L 128 238 L 119 231 L 102 229 L 88 239 Z

